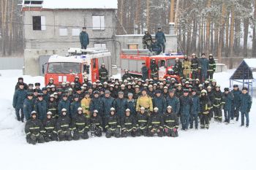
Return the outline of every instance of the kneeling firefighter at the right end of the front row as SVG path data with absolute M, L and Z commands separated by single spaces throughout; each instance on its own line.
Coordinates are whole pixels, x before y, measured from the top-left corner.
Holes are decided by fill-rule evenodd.
M 171 106 L 167 106 L 167 111 L 163 116 L 165 136 L 178 136 L 178 116 L 173 112 Z

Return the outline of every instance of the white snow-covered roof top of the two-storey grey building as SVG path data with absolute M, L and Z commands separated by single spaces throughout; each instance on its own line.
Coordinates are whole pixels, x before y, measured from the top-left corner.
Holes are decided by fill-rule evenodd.
M 117 0 L 44 0 L 46 9 L 117 9 Z

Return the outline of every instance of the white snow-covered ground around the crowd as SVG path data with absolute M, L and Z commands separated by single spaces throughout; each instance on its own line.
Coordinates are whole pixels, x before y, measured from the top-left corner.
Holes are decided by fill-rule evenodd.
M 222 89 L 233 70 L 215 74 Z M 249 128 L 240 122 L 212 122 L 208 130 L 179 131 L 178 138 L 90 138 L 72 142 L 26 143 L 24 124 L 15 120 L 12 95 L 20 70 L 0 71 L 0 169 L 255 169 L 256 105 Z M 23 76 L 25 82 L 43 77 Z M 254 97 L 255 101 L 255 97 Z

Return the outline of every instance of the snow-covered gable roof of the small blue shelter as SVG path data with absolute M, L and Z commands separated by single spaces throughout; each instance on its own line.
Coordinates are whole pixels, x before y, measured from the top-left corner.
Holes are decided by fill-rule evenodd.
M 230 77 L 231 80 L 256 79 L 256 58 L 244 58 L 236 71 Z

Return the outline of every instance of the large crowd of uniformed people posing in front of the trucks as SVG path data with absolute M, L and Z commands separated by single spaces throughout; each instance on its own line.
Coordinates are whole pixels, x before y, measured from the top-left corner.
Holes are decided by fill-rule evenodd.
M 195 69 L 193 63 L 191 68 Z M 186 63 L 181 63 L 181 68 L 187 69 Z M 238 121 L 241 112 L 241 126 L 249 126 L 252 100 L 245 87 L 239 90 L 234 85 L 222 92 L 216 80 L 203 77 L 178 81 L 145 76 L 141 80 L 126 72 L 121 80 L 110 77 L 102 82 L 84 77 L 83 84 L 75 77 L 59 87 L 50 79 L 44 88 L 39 82 L 27 85 L 19 77 L 13 107 L 17 120 L 26 120 L 26 141 L 36 144 L 88 139 L 89 133 L 105 133 L 107 138 L 176 137 L 179 127 L 187 131 L 199 128 L 200 123 L 200 128 L 208 129 L 212 118 L 222 123 L 222 110 L 225 123 Z

